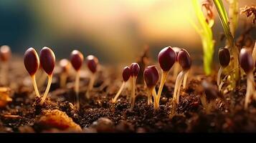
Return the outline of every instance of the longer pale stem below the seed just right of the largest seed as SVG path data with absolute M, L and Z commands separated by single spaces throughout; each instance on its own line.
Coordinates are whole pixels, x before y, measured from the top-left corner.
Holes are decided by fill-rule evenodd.
M 186 71 L 181 71 L 178 74 L 178 77 L 176 79 L 176 84 L 174 87 L 174 101 L 176 104 L 179 104 L 179 94 L 180 94 L 180 89 L 181 89 L 181 83 L 182 83 L 182 80 L 184 79 L 185 73 L 186 73 Z

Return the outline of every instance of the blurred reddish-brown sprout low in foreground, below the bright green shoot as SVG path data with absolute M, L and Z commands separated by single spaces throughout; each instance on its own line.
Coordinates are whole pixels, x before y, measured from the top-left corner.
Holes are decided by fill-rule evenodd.
M 209 82 L 205 80 L 202 82 L 202 87 L 204 89 L 204 94 L 200 95 L 200 100 L 205 111 L 209 114 L 214 107 L 215 99 L 219 97 L 219 92 L 217 88 L 214 88 L 212 84 L 209 84 Z

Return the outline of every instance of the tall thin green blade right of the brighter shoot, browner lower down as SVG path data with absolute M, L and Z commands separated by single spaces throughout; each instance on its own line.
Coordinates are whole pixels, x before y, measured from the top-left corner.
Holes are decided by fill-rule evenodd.
M 234 81 L 231 83 L 233 83 L 232 87 L 234 88 L 236 85 L 236 82 L 240 78 L 240 69 L 238 68 L 238 66 L 239 66 L 239 62 L 238 62 L 239 51 L 237 49 L 237 46 L 235 46 L 235 44 L 234 44 L 234 37 L 232 36 L 232 32 L 229 27 L 229 19 L 228 19 L 227 11 L 224 7 L 224 4 L 222 3 L 221 0 L 214 0 L 214 5 L 218 11 L 219 19 L 222 23 L 222 27 L 224 29 L 224 34 L 225 34 L 228 44 L 229 44 L 229 48 L 231 48 L 230 50 L 232 51 L 233 59 L 231 61 L 231 64 L 229 64 L 229 66 L 231 66 L 231 67 L 229 67 L 229 69 L 236 69 L 234 71 L 234 74 L 231 75 L 231 80 Z

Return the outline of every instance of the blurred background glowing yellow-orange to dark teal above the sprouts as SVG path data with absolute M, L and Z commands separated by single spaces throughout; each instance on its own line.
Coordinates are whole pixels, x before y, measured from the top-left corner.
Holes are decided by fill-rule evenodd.
M 252 4 L 255 0 L 239 1 L 239 7 Z M 188 17 L 197 22 L 188 0 L 0 0 L 0 45 L 20 55 L 31 46 L 37 51 L 49 46 L 57 59 L 79 49 L 108 64 L 134 61 L 145 45 L 155 60 L 165 46 L 202 56 L 199 34 Z M 245 20 L 240 16 L 237 35 Z M 216 11 L 213 29 L 217 50 L 224 43 L 219 42 L 223 30 Z

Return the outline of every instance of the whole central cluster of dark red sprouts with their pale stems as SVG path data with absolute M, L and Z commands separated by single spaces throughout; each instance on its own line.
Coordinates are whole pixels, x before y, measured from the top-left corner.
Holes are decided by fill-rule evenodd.
M 174 101 L 176 104 L 179 104 L 179 92 L 181 89 L 181 84 L 183 82 L 183 87 L 186 87 L 186 80 L 189 74 L 189 69 L 191 68 L 191 58 L 189 53 L 185 49 L 179 49 L 175 47 L 174 49 L 171 46 L 163 48 L 158 54 L 158 63 L 161 68 L 161 82 L 158 88 L 158 92 L 156 93 L 156 85 L 159 79 L 158 69 L 155 65 L 147 66 L 146 69 L 143 71 L 144 81 L 146 83 L 146 87 L 148 90 L 148 105 L 152 103 L 153 97 L 153 107 L 154 109 L 159 109 L 159 102 L 161 97 L 161 92 L 163 90 L 163 85 L 166 82 L 166 79 L 169 75 L 169 71 L 171 67 L 174 66 L 175 62 L 178 62 L 176 68 L 181 66 L 182 71 L 179 73 L 178 77 L 176 78 L 176 85 L 174 89 Z M 128 79 L 132 78 L 132 102 L 131 102 L 131 109 L 133 109 L 135 104 L 135 85 L 136 85 L 136 77 L 139 72 L 139 66 L 136 63 L 131 64 L 130 67 L 125 66 L 123 69 L 123 84 L 120 87 L 120 90 L 115 95 L 113 99 L 113 103 L 116 102 L 117 98 L 119 97 L 120 93 L 125 87 L 125 83 L 128 82 Z

